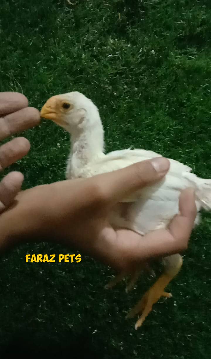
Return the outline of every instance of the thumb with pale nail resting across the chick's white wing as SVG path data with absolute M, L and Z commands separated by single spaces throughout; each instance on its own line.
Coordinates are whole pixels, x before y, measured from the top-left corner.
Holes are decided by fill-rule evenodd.
M 161 180 L 169 167 L 170 162 L 164 157 L 138 162 L 117 171 L 100 174 L 100 187 L 106 192 L 106 198 L 112 201 L 122 200 L 140 188 Z

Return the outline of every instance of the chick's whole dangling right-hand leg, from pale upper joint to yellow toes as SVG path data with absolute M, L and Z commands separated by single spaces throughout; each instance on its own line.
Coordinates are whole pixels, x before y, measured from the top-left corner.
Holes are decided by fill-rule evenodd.
M 136 314 L 142 313 L 140 318 L 135 324 L 135 329 L 140 327 L 149 312 L 152 310 L 154 303 L 160 299 L 160 297 L 171 298 L 171 293 L 165 292 L 167 284 L 178 274 L 182 266 L 182 258 L 179 254 L 172 255 L 164 258 L 164 264 L 166 266 L 166 273 L 162 274 L 160 278 L 153 284 L 153 286 L 144 294 L 143 298 L 131 309 L 126 318 L 133 318 Z

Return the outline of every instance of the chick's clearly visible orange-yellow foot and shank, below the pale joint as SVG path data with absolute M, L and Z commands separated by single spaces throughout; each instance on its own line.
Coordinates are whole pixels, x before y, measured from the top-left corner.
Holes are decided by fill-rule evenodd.
M 164 292 L 164 289 L 168 283 L 168 276 L 162 275 L 156 281 L 156 283 L 154 283 L 154 285 L 144 294 L 143 298 L 136 304 L 136 306 L 127 314 L 126 319 L 133 318 L 136 314 L 142 313 L 135 324 L 136 330 L 143 324 L 145 318 L 151 312 L 154 303 L 156 303 L 161 297 L 172 297 L 171 293 Z

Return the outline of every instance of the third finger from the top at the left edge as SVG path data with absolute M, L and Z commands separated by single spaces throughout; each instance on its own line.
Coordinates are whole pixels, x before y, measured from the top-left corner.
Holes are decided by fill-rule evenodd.
M 0 170 L 15 163 L 30 150 L 30 142 L 25 137 L 16 137 L 0 146 Z

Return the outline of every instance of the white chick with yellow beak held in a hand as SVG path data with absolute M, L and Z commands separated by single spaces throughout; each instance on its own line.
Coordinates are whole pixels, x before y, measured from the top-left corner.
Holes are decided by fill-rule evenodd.
M 96 174 L 114 171 L 154 157 L 161 157 L 153 151 L 144 149 L 125 149 L 104 153 L 104 130 L 98 108 L 80 92 L 70 92 L 51 97 L 42 107 L 41 117 L 53 120 L 71 135 L 71 151 L 67 161 L 66 178 L 91 177 Z M 142 235 L 156 229 L 166 228 L 179 213 L 179 196 L 187 187 L 195 188 L 196 207 L 211 209 L 211 180 L 197 177 L 192 169 L 176 160 L 170 160 L 170 169 L 159 183 L 135 192 L 122 200 L 129 202 L 127 216 L 116 207 L 110 215 L 110 222 L 115 227 L 124 227 Z M 199 213 L 195 224 L 199 223 Z M 179 254 L 163 258 L 165 272 L 144 294 L 143 298 L 130 311 L 127 318 L 142 313 L 136 322 L 137 329 L 151 311 L 157 300 L 171 297 L 165 292 L 166 285 L 174 278 L 182 266 Z M 117 275 L 107 284 L 111 288 L 122 280 L 125 273 Z M 131 289 L 138 279 L 139 269 L 131 278 L 127 290 Z

